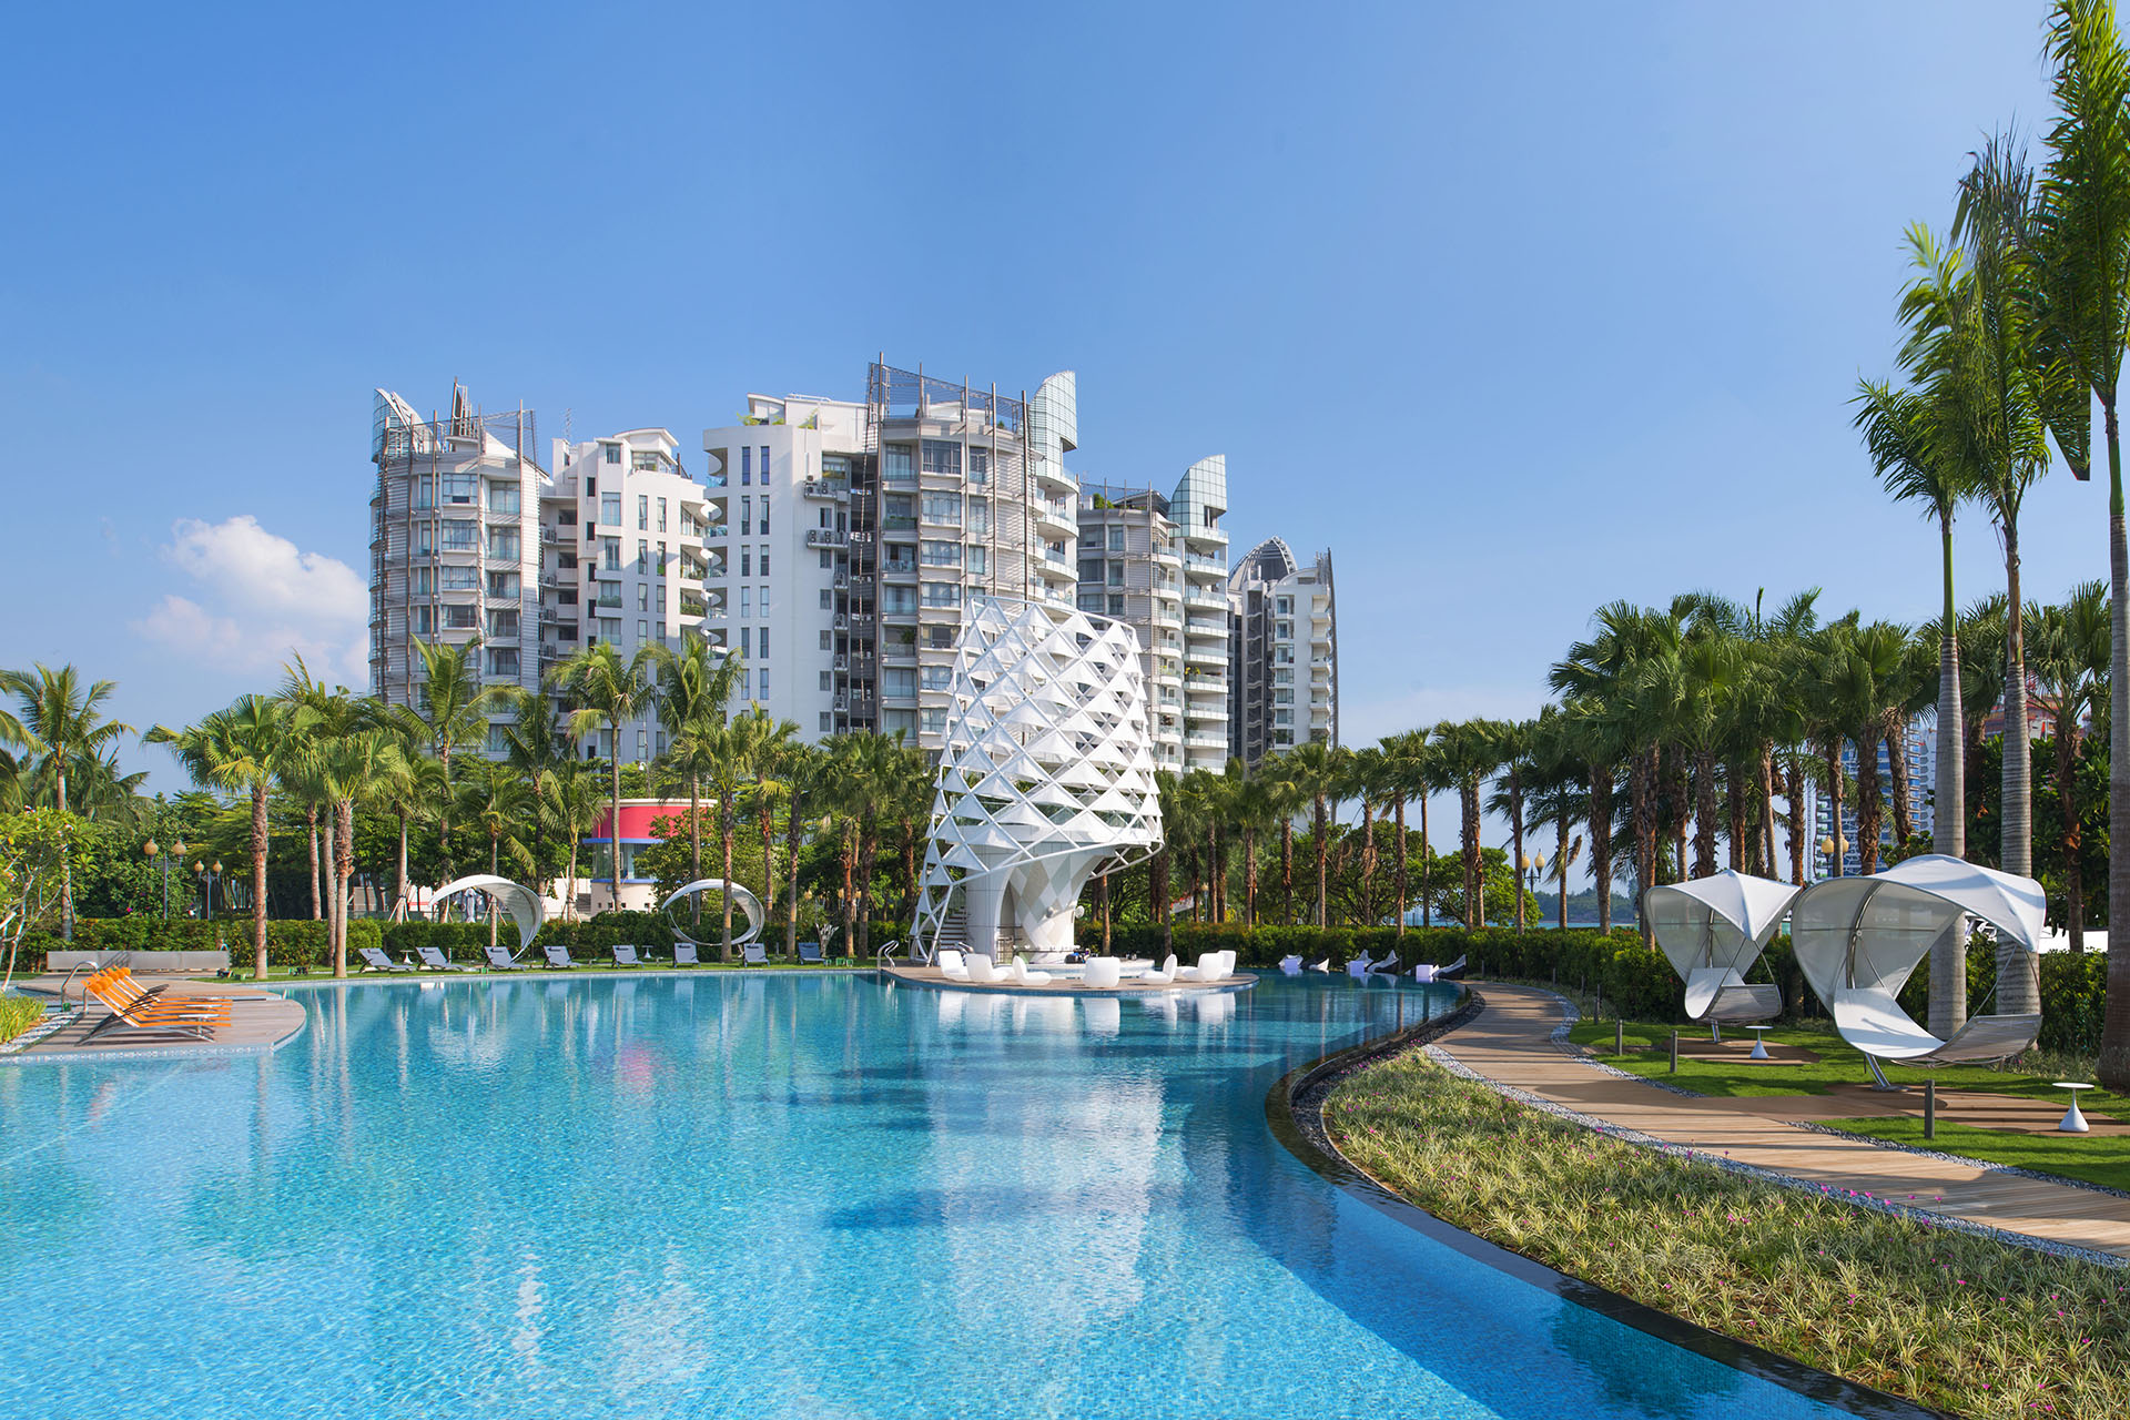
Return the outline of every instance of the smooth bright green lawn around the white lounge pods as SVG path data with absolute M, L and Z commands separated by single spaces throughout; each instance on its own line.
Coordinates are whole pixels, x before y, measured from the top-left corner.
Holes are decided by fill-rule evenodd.
M 1813 1050 L 1819 1054 L 1819 1060 L 1815 1062 L 1747 1064 L 1742 1058 L 1695 1060 L 1681 1054 L 1678 1073 L 1672 1075 L 1668 1071 L 1672 1030 L 1674 1026 L 1627 1022 L 1629 1050 L 1625 1056 L 1612 1052 L 1612 1022 L 1578 1022 L 1570 1030 L 1570 1039 L 1587 1047 L 1593 1058 L 1604 1060 L 1606 1064 L 1636 1075 L 1649 1075 L 1651 1079 L 1661 1079 L 1664 1084 L 1674 1084 L 1683 1090 L 1693 1090 L 1695 1094 L 1825 1094 L 1828 1086 L 1834 1084 L 1870 1084 L 1870 1069 L 1864 1064 L 1864 1056 L 1857 1050 L 1832 1030 L 1813 1028 L 1776 1028 L 1768 1033 L 1768 1043 L 1802 1045 L 1804 1050 Z M 1702 1028 L 1693 1028 L 1691 1033 L 1681 1030 L 1681 1045 L 1689 1039 L 1706 1039 L 1706 1035 L 1708 1033 Z M 1751 1033 L 1738 1035 L 1751 1039 Z M 1725 1035 L 1725 1039 L 1732 1037 Z M 1646 1050 L 1634 1050 L 1638 1043 L 1646 1045 Z M 2066 1069 L 2072 1073 L 2064 1073 Z M 2092 1079 L 2092 1075 L 2079 1064 L 2055 1062 L 2053 1069 L 2043 1069 L 2041 1073 L 2019 1067 L 1989 1069 L 1987 1064 L 1949 1064 L 1936 1071 L 1889 1064 L 1885 1067 L 1885 1075 L 1894 1084 L 1911 1088 L 1906 1099 L 1913 1101 L 1913 1118 L 1830 1120 L 1828 1124 L 1857 1135 L 1872 1135 L 1874 1139 L 1894 1139 L 1917 1147 L 1945 1150 L 1947 1154 L 1964 1154 L 1968 1158 L 2013 1165 L 2017 1169 L 2038 1169 L 2041 1173 L 2060 1173 L 2064 1177 L 2085 1179 L 2087 1184 L 2130 1190 L 2130 1137 L 2121 1135 L 2019 1135 L 2011 1130 L 1949 1124 L 1940 1118 L 1938 1137 L 1923 1139 L 1921 1116 L 1926 1079 L 1938 1081 L 1940 1096 L 1949 1090 L 1981 1090 L 1987 1094 L 2041 1099 L 2051 1107 L 2062 1109 L 2066 1092 L 2051 1088 L 2051 1081 Z M 2079 1107 L 2087 1116 L 2130 1120 L 2130 1101 L 2119 1094 L 2109 1094 L 2107 1090 L 2085 1090 L 2079 1099 Z

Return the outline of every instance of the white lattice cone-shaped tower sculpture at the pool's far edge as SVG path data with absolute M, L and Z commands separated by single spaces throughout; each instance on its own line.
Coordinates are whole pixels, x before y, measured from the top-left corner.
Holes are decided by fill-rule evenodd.
M 1140 637 L 1125 622 L 973 598 L 954 643 L 952 707 L 912 935 L 963 913 L 969 952 L 1018 928 L 1037 960 L 1071 952 L 1097 873 L 1161 847 Z

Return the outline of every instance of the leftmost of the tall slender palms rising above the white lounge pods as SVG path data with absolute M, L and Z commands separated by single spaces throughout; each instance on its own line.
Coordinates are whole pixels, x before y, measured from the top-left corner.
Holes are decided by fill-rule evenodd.
M 1932 398 L 1885 383 L 1859 381 L 1855 426 L 1872 468 L 1896 502 L 1919 502 L 1938 519 L 1945 600 L 1938 615 L 1938 781 L 1932 843 L 1936 854 L 1966 858 L 1966 773 L 1960 756 L 1960 609 L 1953 602 L 1953 513 L 1975 496 L 1981 470 L 1957 439 L 1955 400 L 1945 381 Z M 1953 407 L 1953 409 L 1949 409 Z

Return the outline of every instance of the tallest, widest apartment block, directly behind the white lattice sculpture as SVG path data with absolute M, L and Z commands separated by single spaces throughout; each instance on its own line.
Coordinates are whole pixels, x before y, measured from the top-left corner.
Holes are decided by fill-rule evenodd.
M 884 362 L 863 404 L 750 394 L 703 432 L 726 528 L 705 626 L 746 660 L 746 698 L 809 739 L 939 749 L 965 600 L 1074 605 L 1076 443 L 1069 370 L 1029 398 Z

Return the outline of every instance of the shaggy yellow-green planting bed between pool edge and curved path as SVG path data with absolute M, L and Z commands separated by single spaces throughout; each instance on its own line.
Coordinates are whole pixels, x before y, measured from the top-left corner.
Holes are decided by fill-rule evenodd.
M 1429 1213 L 1727 1337 L 1947 1414 L 2130 1416 L 2119 1269 L 1621 1143 L 1419 1052 L 1342 1081 L 1325 1126 Z

